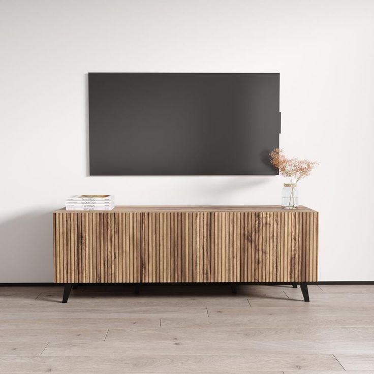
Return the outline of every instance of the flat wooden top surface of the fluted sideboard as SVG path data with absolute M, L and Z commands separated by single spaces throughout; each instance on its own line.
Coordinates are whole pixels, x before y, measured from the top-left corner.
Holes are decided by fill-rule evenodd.
M 297 209 L 283 209 L 280 205 L 116 205 L 113 210 L 66 210 L 61 208 L 55 211 L 80 212 L 315 212 L 306 206 L 300 205 Z

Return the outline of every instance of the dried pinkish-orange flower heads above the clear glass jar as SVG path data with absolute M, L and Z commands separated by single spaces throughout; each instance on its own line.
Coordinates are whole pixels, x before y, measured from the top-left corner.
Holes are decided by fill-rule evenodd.
M 279 170 L 279 174 L 290 178 L 290 183 L 297 183 L 300 179 L 307 177 L 318 165 L 317 161 L 289 159 L 285 156 L 283 149 L 275 148 L 270 153 L 271 164 Z

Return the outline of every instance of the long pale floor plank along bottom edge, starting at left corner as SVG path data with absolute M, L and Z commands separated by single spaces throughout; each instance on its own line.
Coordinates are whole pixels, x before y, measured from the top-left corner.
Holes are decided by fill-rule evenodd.
M 183 356 L 80 356 L 0 357 L 0 372 L 66 373 L 179 373 L 212 371 L 344 371 L 333 355 L 183 355 Z

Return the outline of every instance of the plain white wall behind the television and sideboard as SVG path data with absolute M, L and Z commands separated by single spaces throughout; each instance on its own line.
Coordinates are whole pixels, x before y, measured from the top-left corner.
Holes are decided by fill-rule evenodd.
M 87 72 L 280 72 L 281 146 L 320 161 L 320 281 L 374 281 L 371 0 L 0 0 L 0 282 L 53 282 L 52 214 L 278 204 L 282 177 L 90 177 Z

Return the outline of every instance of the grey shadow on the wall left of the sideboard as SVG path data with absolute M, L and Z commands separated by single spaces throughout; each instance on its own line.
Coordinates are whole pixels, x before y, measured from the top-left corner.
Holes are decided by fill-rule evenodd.
M 0 223 L 0 283 L 53 282 L 52 212 Z

